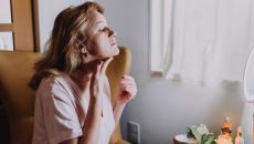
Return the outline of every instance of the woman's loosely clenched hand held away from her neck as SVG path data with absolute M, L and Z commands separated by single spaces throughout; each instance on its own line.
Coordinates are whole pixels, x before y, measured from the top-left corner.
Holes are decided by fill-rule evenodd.
M 118 96 L 118 102 L 120 104 L 126 104 L 133 100 L 137 94 L 137 85 L 133 76 L 124 75 L 120 80 L 120 92 Z

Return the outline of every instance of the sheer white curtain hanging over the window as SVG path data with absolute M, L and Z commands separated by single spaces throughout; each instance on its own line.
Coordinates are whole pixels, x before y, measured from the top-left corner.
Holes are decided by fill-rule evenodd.
M 169 1 L 163 8 L 166 76 L 198 84 L 241 81 L 252 45 L 253 0 Z

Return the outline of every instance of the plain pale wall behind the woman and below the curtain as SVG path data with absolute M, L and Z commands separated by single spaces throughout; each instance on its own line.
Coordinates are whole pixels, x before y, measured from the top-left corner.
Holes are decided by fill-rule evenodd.
M 39 2 L 41 48 L 50 37 L 56 13 L 81 1 Z M 149 73 L 148 0 L 97 1 L 105 6 L 108 23 L 118 33 L 118 43 L 129 47 L 133 52 L 131 75 L 136 78 L 138 95 L 124 111 L 121 126 L 125 138 L 129 120 L 140 123 L 141 144 L 170 144 L 173 135 L 186 132 L 187 125 L 202 122 L 219 132 L 225 115 L 231 116 L 233 125 L 239 125 L 242 111 L 242 123 L 248 126 L 245 122 L 248 121 L 250 109 L 242 102 L 242 91 L 232 89 L 231 94 L 223 94 L 219 90 L 174 83 Z

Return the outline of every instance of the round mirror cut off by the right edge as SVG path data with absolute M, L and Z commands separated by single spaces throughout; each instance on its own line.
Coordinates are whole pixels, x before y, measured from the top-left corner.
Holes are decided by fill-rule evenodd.
M 252 47 L 252 51 L 248 54 L 245 70 L 244 70 L 244 95 L 247 102 L 254 103 L 254 47 Z

